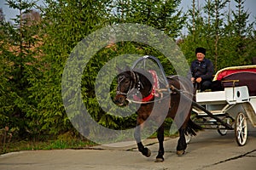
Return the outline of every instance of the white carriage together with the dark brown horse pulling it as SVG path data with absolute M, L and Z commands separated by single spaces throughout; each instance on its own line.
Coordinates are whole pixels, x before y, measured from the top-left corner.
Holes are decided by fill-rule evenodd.
M 256 65 L 225 68 L 217 72 L 213 82 L 218 82 L 219 88 L 195 92 L 189 78 L 166 77 L 160 61 L 148 55 L 137 59 L 131 70 L 118 75 L 115 103 L 120 106 L 126 105 L 125 101 L 140 104 L 134 137 L 143 156 L 151 154 L 141 140 L 141 132 L 150 117 L 158 123 L 160 148 L 156 161 L 164 161 L 163 120 L 166 117 L 174 119 L 176 124 L 181 122 L 177 126 L 177 155 L 185 153 L 189 137 L 202 127 L 217 129 L 221 135 L 235 130 L 237 144 L 246 144 L 247 119 L 256 127 Z

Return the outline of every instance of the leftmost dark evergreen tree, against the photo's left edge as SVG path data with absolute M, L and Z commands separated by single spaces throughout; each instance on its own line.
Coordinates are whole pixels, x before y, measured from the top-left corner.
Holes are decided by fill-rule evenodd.
M 2 22 L 3 42 L 1 42 L 1 105 L 3 121 L 1 124 L 16 129 L 20 138 L 31 133 L 27 112 L 33 108 L 33 100 L 29 99 L 31 84 L 28 79 L 32 76 L 31 65 L 35 61 L 36 50 L 34 37 L 37 29 L 27 26 L 28 20 L 24 17 L 35 5 L 25 1 L 7 1 L 9 8 L 15 8 L 19 14 L 14 25 Z

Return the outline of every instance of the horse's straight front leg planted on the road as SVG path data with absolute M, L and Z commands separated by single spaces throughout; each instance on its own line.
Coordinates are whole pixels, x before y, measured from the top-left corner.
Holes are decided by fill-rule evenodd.
M 158 150 L 158 155 L 156 156 L 156 162 L 162 162 L 164 161 L 164 154 L 165 154 L 165 150 L 164 150 L 164 124 L 162 124 L 158 130 L 157 130 L 157 139 L 159 141 L 159 150 Z

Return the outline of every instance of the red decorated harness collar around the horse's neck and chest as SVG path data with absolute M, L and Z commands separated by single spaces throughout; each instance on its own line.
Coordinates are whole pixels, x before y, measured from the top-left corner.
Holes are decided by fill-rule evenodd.
M 152 77 L 153 77 L 153 87 L 152 87 L 152 90 L 151 90 L 151 93 L 148 94 L 147 97 L 144 97 L 141 101 L 142 102 L 148 102 L 150 101 L 151 99 L 154 99 L 154 96 L 158 97 L 159 94 L 155 93 L 155 90 L 156 88 L 160 88 L 159 86 L 159 80 L 158 80 L 158 77 L 157 77 L 157 74 L 155 71 L 148 71 Z M 137 95 L 134 95 L 133 96 L 133 99 L 136 100 L 136 101 L 140 101 L 140 99 L 137 97 Z

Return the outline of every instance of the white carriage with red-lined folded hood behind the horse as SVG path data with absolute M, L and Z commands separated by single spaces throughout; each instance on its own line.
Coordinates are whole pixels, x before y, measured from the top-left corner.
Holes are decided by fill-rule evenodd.
M 195 122 L 225 135 L 235 129 L 236 142 L 247 142 L 247 120 L 256 127 L 256 65 L 228 67 L 220 70 L 213 81 L 223 90 L 195 94 Z

